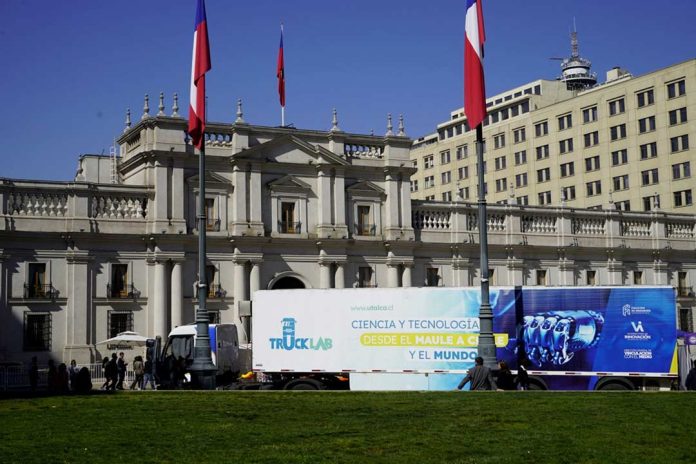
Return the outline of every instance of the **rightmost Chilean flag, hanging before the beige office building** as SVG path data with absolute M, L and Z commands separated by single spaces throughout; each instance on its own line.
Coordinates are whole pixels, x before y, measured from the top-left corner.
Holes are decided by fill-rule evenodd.
M 482 0 L 466 0 L 464 40 L 464 113 L 472 129 L 486 117 L 486 86 L 483 79 Z

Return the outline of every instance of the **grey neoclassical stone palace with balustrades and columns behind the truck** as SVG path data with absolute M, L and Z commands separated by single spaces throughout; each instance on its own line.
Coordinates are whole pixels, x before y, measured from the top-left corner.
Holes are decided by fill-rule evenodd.
M 162 106 L 127 124 L 119 156 L 82 156 L 73 181 L 0 180 L 0 362 L 92 362 L 118 332 L 193 321 L 198 154 Z M 209 123 L 212 320 L 246 342 L 238 303 L 259 289 L 479 284 L 476 204 L 411 200 L 412 141 L 391 126 L 255 126 L 241 103 Z M 488 230 L 493 285 L 673 285 L 693 329 L 693 215 L 491 205 Z

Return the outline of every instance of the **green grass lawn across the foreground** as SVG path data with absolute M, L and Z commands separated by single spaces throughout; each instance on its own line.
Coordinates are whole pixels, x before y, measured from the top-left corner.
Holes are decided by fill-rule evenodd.
M 119 392 L 0 401 L 0 462 L 693 462 L 696 395 Z M 200 458 L 198 457 L 200 456 Z

